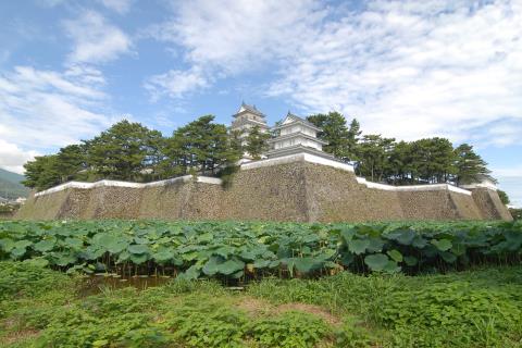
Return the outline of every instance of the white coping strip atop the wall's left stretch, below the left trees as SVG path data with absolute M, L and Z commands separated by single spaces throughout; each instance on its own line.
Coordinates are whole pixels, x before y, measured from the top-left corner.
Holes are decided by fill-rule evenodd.
M 45 196 L 58 191 L 62 191 L 69 188 L 79 188 L 79 189 L 89 189 L 95 187 L 127 187 L 127 188 L 145 188 L 145 187 L 159 187 L 166 186 L 174 183 L 187 183 L 194 179 L 192 175 L 184 175 L 179 177 L 167 178 L 164 181 L 152 182 L 152 183 L 130 183 L 130 182 L 119 182 L 119 181 L 99 181 L 96 183 L 83 183 L 83 182 L 69 182 L 62 185 L 51 187 L 49 189 L 39 191 L 35 194 L 35 197 Z M 197 183 L 221 185 L 222 179 L 217 177 L 210 176 L 196 176 Z

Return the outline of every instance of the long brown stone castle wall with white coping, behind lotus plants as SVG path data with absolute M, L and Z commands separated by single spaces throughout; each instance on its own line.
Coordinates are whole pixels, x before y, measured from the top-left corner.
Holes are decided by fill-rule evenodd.
M 226 188 L 219 179 L 191 176 L 149 184 L 69 183 L 34 195 L 16 217 L 298 222 L 511 219 L 492 189 L 368 183 L 345 163 L 307 156 L 246 164 Z

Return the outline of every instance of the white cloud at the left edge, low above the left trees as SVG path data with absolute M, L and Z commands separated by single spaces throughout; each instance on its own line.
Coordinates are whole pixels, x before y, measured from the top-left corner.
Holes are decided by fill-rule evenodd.
M 103 114 L 103 83 L 99 71 L 78 65 L 63 73 L 16 66 L 0 74 L 0 165 L 20 170 L 36 151 L 108 127 L 113 120 Z

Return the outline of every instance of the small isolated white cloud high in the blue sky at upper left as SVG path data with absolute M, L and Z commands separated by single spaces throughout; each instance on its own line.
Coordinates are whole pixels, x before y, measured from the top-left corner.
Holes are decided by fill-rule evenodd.
M 103 63 L 132 49 L 130 38 L 95 11 L 84 11 L 72 21 L 63 22 L 74 49 L 69 60 L 74 63 Z

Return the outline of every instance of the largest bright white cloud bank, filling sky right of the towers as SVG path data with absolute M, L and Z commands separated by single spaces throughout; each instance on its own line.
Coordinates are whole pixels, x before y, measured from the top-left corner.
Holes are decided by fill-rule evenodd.
M 340 110 L 386 136 L 460 141 L 481 127 L 488 142 L 520 141 L 490 125 L 522 121 L 521 5 L 420 4 L 374 1 L 324 26 L 269 94 L 308 112 Z

